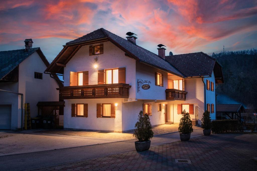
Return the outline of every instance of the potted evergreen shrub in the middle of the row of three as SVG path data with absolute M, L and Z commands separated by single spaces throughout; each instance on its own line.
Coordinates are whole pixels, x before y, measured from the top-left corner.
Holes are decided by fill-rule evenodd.
M 190 135 L 193 132 L 193 126 L 190 115 L 188 112 L 186 112 L 186 110 L 183 110 L 182 112 L 182 118 L 179 122 L 178 131 L 180 133 L 179 135 L 181 141 L 187 141 L 190 139 Z

